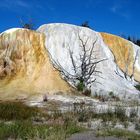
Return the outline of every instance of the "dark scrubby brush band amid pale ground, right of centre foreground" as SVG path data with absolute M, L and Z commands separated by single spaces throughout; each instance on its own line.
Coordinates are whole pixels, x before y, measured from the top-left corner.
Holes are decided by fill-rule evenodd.
M 95 110 L 87 107 L 84 102 L 74 103 L 74 116 L 79 122 L 88 122 L 89 120 L 101 119 L 102 122 L 121 122 L 125 124 L 129 121 L 126 115 L 126 109 L 117 105 L 114 110 L 108 109 L 104 113 L 97 113 Z

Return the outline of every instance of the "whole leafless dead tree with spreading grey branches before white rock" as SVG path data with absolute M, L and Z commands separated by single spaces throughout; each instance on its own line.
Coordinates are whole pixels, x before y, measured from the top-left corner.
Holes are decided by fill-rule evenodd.
M 54 66 L 61 72 L 63 77 L 74 83 L 74 86 L 77 87 L 78 84 L 82 84 L 83 90 L 87 87 L 91 87 L 91 84 L 96 81 L 96 78 L 93 76 L 99 76 L 101 71 L 97 70 L 97 64 L 107 59 L 98 59 L 96 57 L 96 51 L 94 51 L 95 44 L 97 42 L 97 37 L 92 45 L 88 46 L 89 37 L 86 41 L 83 41 L 78 34 L 80 41 L 81 54 L 79 58 L 75 59 L 73 55 L 73 50 L 68 47 L 69 57 L 72 63 L 73 74 L 68 72 L 58 61 L 53 60 Z M 52 57 L 51 57 L 52 58 Z M 80 60 L 80 64 L 77 66 L 76 62 Z

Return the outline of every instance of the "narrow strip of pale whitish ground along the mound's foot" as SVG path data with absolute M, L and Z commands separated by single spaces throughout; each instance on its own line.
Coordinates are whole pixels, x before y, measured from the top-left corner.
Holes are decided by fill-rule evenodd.
M 44 102 L 46 98 L 46 102 Z M 53 102 L 57 105 L 57 109 L 66 112 L 73 110 L 74 104 L 84 104 L 86 108 L 103 113 L 109 109 L 114 110 L 116 106 L 123 107 L 126 114 L 129 116 L 132 110 L 137 111 L 137 115 L 140 116 L 140 101 L 139 100 L 117 100 L 116 97 L 87 97 L 87 96 L 74 96 L 74 95 L 44 95 L 34 96 L 26 101 L 26 104 L 30 106 L 46 107 L 49 102 Z M 51 110 L 51 108 L 50 108 Z

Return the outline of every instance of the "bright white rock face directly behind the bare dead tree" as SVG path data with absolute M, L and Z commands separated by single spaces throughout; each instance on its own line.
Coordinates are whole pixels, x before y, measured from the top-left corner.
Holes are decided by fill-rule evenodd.
M 37 31 L 45 33 L 46 35 L 45 45 L 46 49 L 50 53 L 53 64 L 59 64 L 61 68 L 65 69 L 71 75 L 74 75 L 75 73 L 72 60 L 70 58 L 70 51 L 72 52 L 74 61 L 78 67 L 81 63 L 80 55 L 82 54 L 80 39 L 83 42 L 86 42 L 88 39 L 86 45 L 87 50 L 97 39 L 94 46 L 95 52 L 92 54 L 92 56 L 96 57 L 98 60 L 107 60 L 97 64 L 97 70 L 101 71 L 102 73 L 99 76 L 92 75 L 90 79 L 97 79 L 96 82 L 92 83 L 91 85 L 92 94 L 95 92 L 99 94 L 107 94 L 112 91 L 114 94 L 117 94 L 122 98 L 138 98 L 139 92 L 134 88 L 134 81 L 132 82 L 131 80 L 126 80 L 125 78 L 116 74 L 115 71 L 118 69 L 120 75 L 123 76 L 123 73 L 114 62 L 112 52 L 103 42 L 100 33 L 88 28 L 68 24 L 46 24 L 39 27 Z M 135 49 L 137 48 L 138 47 L 135 46 Z M 139 59 L 136 62 L 138 67 L 140 66 Z M 72 81 L 69 82 L 72 85 L 74 84 Z

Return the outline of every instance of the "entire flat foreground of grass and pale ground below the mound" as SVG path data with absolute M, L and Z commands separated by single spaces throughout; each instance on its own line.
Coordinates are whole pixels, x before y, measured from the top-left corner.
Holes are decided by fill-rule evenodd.
M 139 140 L 140 103 L 114 96 L 60 94 L 0 102 L 0 134 L 0 138 Z

